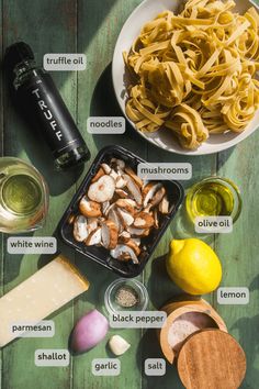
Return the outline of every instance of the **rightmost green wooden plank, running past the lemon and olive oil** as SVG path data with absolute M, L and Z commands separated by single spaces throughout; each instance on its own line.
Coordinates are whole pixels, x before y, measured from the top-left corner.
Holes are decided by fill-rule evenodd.
M 247 305 L 218 305 L 229 332 L 240 342 L 247 356 L 247 376 L 244 388 L 259 385 L 259 275 L 258 275 L 258 142 L 259 132 L 239 144 L 233 153 L 222 153 L 218 174 L 233 179 L 240 188 L 243 212 L 230 237 L 218 235 L 216 251 L 223 262 L 223 286 L 247 287 L 250 302 Z

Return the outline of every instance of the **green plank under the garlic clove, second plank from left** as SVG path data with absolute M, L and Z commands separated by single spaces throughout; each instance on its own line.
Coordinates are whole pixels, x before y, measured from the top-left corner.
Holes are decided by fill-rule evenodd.
M 125 135 L 89 135 L 86 131 L 89 115 L 121 115 L 115 103 L 115 97 L 111 78 L 111 60 L 116 36 L 121 25 L 139 1 L 113 1 L 102 2 L 90 0 L 78 2 L 78 52 L 86 53 L 88 58 L 88 73 L 78 75 L 78 122 L 83 132 L 88 145 L 91 145 L 92 159 L 97 151 L 105 145 L 120 144 L 136 154 L 145 157 L 145 146 L 137 144 L 131 131 Z M 87 93 L 86 93 L 87 91 Z M 100 266 L 87 263 L 83 258 L 77 257 L 77 264 L 88 275 L 91 288 L 86 294 L 85 301 L 78 301 L 75 309 L 75 319 L 94 308 L 101 307 L 103 311 L 103 293 L 109 284 L 115 279 L 112 273 L 100 268 Z M 98 277 L 97 277 L 98 274 Z M 103 311 L 105 312 L 105 311 Z M 106 313 L 106 312 L 105 312 Z M 117 333 L 110 331 L 109 336 Z M 120 330 L 132 345 L 131 353 L 126 353 L 120 359 L 122 374 L 119 377 L 94 377 L 91 374 L 91 360 L 111 356 L 105 349 L 105 342 L 98 345 L 89 354 L 85 354 L 74 362 L 74 386 L 75 388 L 94 389 L 120 389 L 140 388 L 142 376 L 138 370 L 138 343 L 140 330 Z M 108 336 L 108 338 L 109 338 Z

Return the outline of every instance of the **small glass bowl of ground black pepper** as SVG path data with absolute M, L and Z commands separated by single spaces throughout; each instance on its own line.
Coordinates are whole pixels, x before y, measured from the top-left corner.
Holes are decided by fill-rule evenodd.
M 109 313 L 145 311 L 148 303 L 147 289 L 136 279 L 120 278 L 108 287 L 104 303 Z

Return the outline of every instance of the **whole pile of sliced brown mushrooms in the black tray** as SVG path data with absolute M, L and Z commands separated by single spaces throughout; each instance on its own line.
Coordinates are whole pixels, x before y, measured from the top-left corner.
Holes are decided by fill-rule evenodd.
M 138 264 L 142 238 L 159 227 L 158 211 L 168 213 L 169 201 L 161 182 L 147 182 L 124 160 L 112 158 L 101 164 L 79 210 L 69 219 L 77 241 L 103 245 L 114 258 Z

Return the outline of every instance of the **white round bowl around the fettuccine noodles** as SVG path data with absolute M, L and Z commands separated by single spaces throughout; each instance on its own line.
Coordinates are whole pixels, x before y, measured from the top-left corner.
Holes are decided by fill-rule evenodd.
M 159 12 L 165 10 L 177 11 L 181 2 L 181 0 L 145 0 L 133 11 L 122 27 L 113 55 L 112 78 L 117 102 L 125 116 L 127 91 L 125 88 L 125 65 L 122 53 L 130 51 L 134 40 L 139 35 L 140 29 L 146 22 L 153 20 Z M 238 0 L 236 3 L 236 9 L 240 13 L 244 13 L 252 4 L 258 8 L 256 3 L 248 0 Z M 222 152 L 223 149 L 229 148 L 251 135 L 258 127 L 259 111 L 243 133 L 237 134 L 234 132 L 228 132 L 226 134 L 211 135 L 209 140 L 195 151 L 182 148 L 178 144 L 177 140 L 171 135 L 170 131 L 157 131 L 155 133 L 147 134 L 137 131 L 132 121 L 128 120 L 128 122 L 145 140 L 160 148 L 177 154 L 204 155 Z

